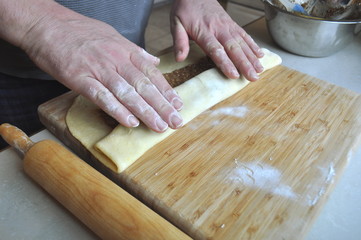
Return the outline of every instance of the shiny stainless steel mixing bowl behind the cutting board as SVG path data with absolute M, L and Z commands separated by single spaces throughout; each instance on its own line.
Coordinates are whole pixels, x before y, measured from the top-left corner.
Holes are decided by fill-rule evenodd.
M 308 57 L 326 57 L 347 46 L 361 31 L 361 21 L 328 21 L 282 10 L 267 0 L 267 28 L 285 50 Z

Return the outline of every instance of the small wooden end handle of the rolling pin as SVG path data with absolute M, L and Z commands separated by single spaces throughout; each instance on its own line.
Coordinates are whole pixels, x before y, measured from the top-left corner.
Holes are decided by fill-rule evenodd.
M 0 135 L 23 155 L 34 145 L 23 131 L 8 123 L 0 125 Z

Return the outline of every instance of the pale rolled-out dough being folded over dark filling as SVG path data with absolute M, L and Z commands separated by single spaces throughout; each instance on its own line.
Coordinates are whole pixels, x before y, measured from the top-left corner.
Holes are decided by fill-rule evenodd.
M 279 65 L 281 58 L 267 49 L 263 49 L 265 56 L 260 59 L 265 70 Z M 163 72 L 172 72 L 194 63 L 204 54 L 192 49 L 189 62 L 179 65 L 173 60 L 171 54 L 161 57 L 159 69 Z M 166 63 L 162 65 L 162 63 Z M 196 77 L 186 81 L 175 90 L 183 99 L 184 107 L 181 111 L 184 124 L 197 115 L 232 96 L 249 82 L 240 79 L 228 79 L 216 68 L 202 72 Z M 115 172 L 121 172 L 134 163 L 148 149 L 164 140 L 175 130 L 168 129 L 164 133 L 155 133 L 144 125 L 137 128 L 126 128 L 118 125 L 114 130 L 106 126 L 104 119 L 94 117 L 99 111 L 92 103 L 83 97 L 78 97 L 68 111 L 66 122 L 70 132 L 97 157 L 104 165 Z

